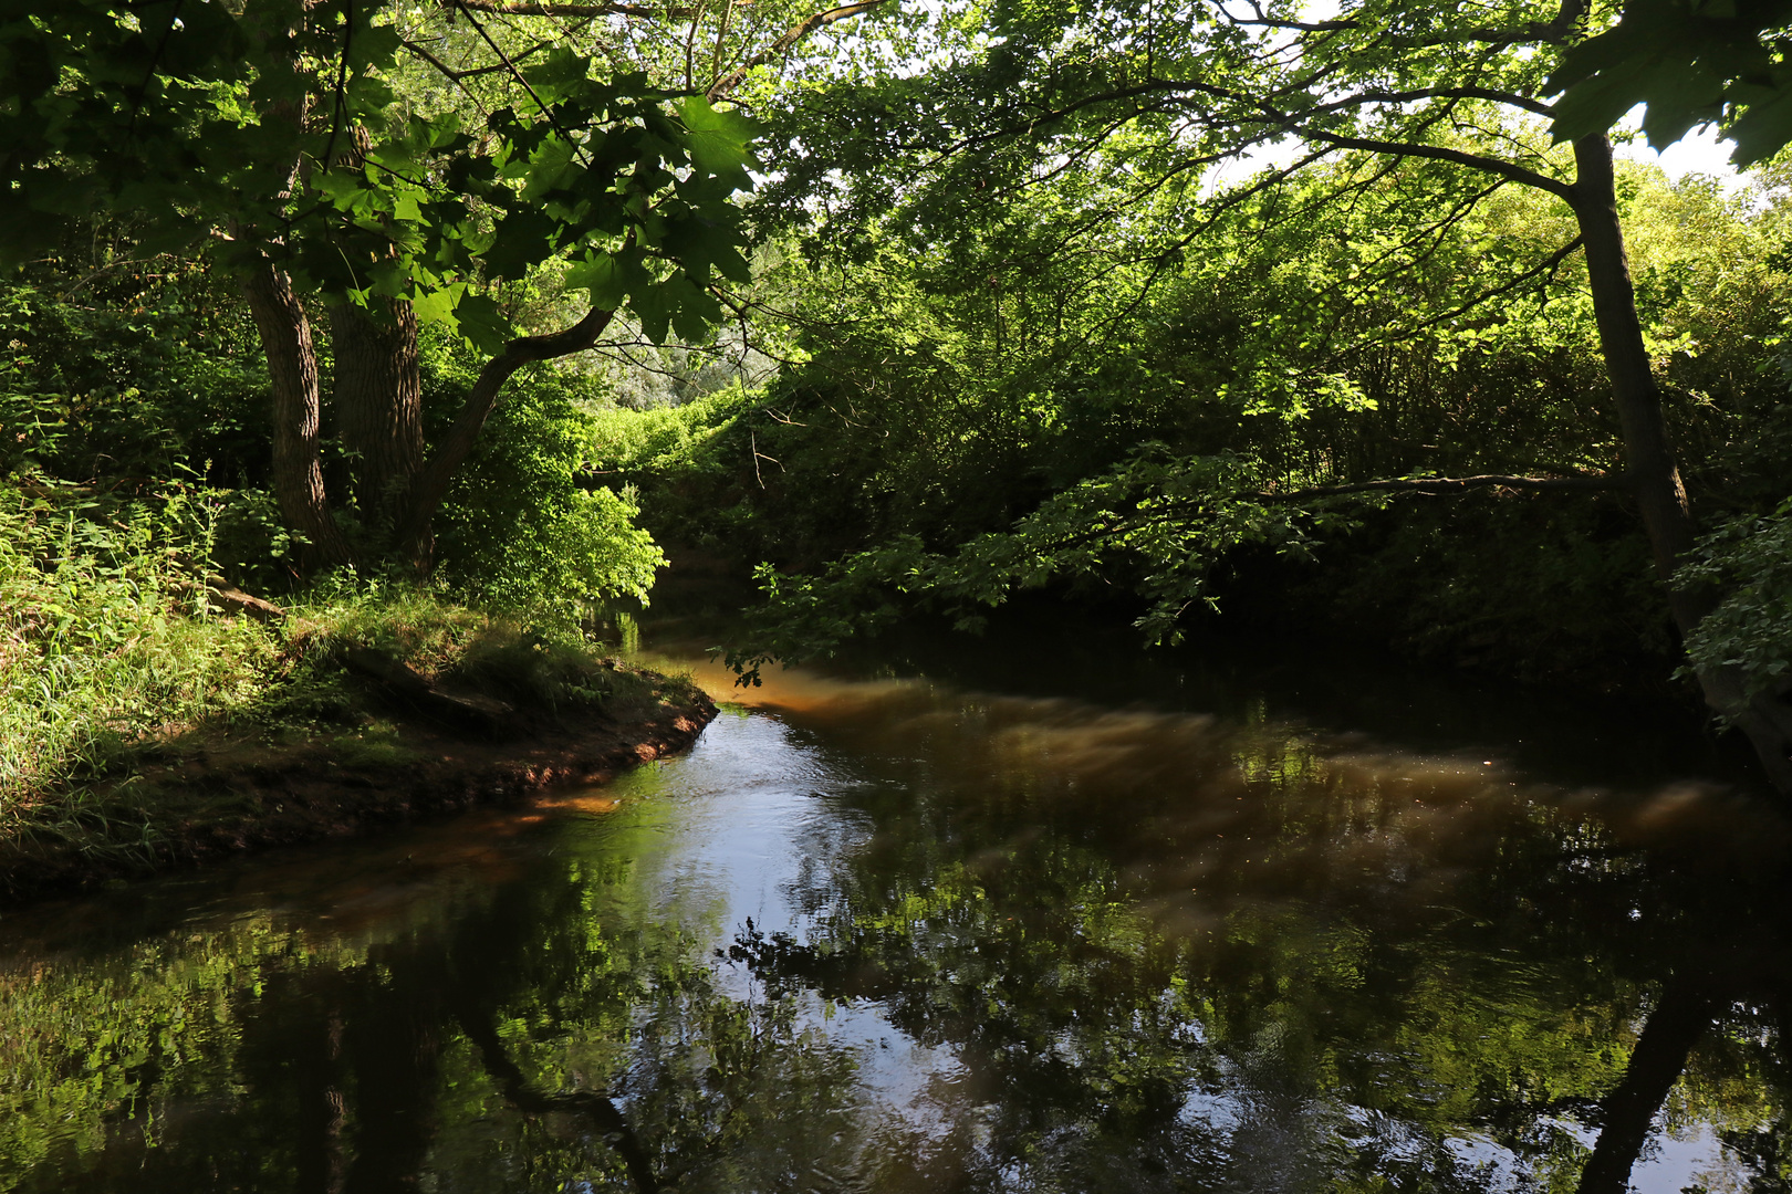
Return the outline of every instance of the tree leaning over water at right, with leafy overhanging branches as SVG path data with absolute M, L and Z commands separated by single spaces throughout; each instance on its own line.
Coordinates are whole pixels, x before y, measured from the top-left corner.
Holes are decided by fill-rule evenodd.
M 1563 154 L 1539 136 L 1557 115 L 1546 98 L 1552 72 L 1588 29 L 1613 16 L 1584 0 L 1566 0 L 1548 20 L 1536 20 L 1525 4 L 1462 13 L 1410 0 L 1364 0 L 1319 21 L 1301 20 L 1297 5 L 1254 0 L 1093 11 L 1014 2 L 993 9 L 987 25 L 978 27 L 982 39 L 944 45 L 946 64 L 930 75 L 889 72 L 799 107 L 794 120 L 812 131 L 812 143 L 828 147 L 828 158 L 894 158 L 894 170 L 849 188 L 837 206 L 846 222 L 864 220 L 894 199 L 905 206 L 903 218 L 952 240 L 955 229 L 1000 222 L 971 220 L 968 213 L 1014 204 L 1072 170 L 1118 179 L 1120 193 L 1098 195 L 1100 206 L 1066 217 L 1070 231 L 1061 243 L 1070 251 L 1073 243 L 1136 236 L 1143 243 L 1133 260 L 1165 265 L 1147 276 L 1145 286 L 1156 285 L 1183 252 L 1195 251 L 1219 213 L 1328 159 L 1380 163 L 1357 177 L 1453 179 L 1453 193 L 1439 193 L 1441 206 L 1412 204 L 1409 192 L 1403 204 L 1383 208 L 1396 245 L 1389 260 L 1396 263 L 1423 261 L 1439 229 L 1469 218 L 1498 192 L 1532 188 L 1566 208 L 1577 235 L 1532 260 L 1493 261 L 1500 274 L 1469 308 L 1509 301 L 1552 279 L 1572 256 L 1584 260 L 1609 401 L 1622 428 L 1622 458 L 1593 474 L 1378 478 L 1349 489 L 1310 485 L 1253 496 L 1226 492 L 1240 478 L 1213 462 L 1188 471 L 1163 462 L 1129 465 L 1082 498 L 1054 499 L 1020 533 L 969 550 L 955 566 L 898 551 L 871 569 L 998 600 L 1012 584 L 1084 567 L 1091 550 L 1118 537 L 1158 533 L 1174 542 L 1174 528 L 1195 523 L 1220 541 L 1279 533 L 1263 530 L 1274 523 L 1263 514 L 1271 505 L 1299 508 L 1344 492 L 1484 485 L 1622 489 L 1641 514 L 1674 619 L 1683 635 L 1692 634 L 1719 593 L 1676 580 L 1693 546 L 1695 521 L 1641 335 L 1611 140 L 1606 127 L 1597 127 Z M 857 102 L 848 107 L 844 97 Z M 903 106 L 903 98 L 912 102 Z M 1222 186 L 1211 197 L 1199 193 L 1195 181 L 1208 168 L 1272 143 L 1294 145 L 1288 165 Z M 788 165 L 785 193 L 796 195 L 814 183 L 814 174 L 805 175 L 803 163 Z M 1349 183 L 1339 202 L 1360 202 L 1367 193 Z M 1400 285 L 1396 267 L 1378 270 L 1378 277 Z M 1170 551 L 1174 546 L 1165 550 L 1161 591 L 1152 596 L 1163 598 L 1159 609 L 1174 616 L 1195 593 L 1195 582 L 1193 569 L 1176 575 Z M 1792 707 L 1751 695 L 1731 668 L 1699 666 L 1697 675 L 1710 707 L 1749 736 L 1772 780 L 1792 791 Z

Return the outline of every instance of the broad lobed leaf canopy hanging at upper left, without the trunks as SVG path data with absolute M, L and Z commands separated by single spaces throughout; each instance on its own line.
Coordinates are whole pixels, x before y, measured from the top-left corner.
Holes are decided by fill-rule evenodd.
M 747 277 L 731 202 L 751 190 L 745 116 L 563 43 L 521 68 L 525 106 L 462 131 L 387 82 L 403 47 L 387 9 L 79 0 L 5 18 L 7 258 L 65 211 L 109 208 L 151 220 L 149 247 L 228 233 L 237 267 L 267 252 L 301 290 L 412 299 L 493 353 L 509 329 L 486 285 L 554 256 L 654 340 L 720 317 L 711 274 Z M 301 118 L 314 100 L 324 118 Z

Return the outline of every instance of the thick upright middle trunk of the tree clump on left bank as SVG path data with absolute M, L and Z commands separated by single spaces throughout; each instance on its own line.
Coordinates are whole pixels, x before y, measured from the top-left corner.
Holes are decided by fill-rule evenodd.
M 362 519 L 391 533 L 405 494 L 423 467 L 423 383 L 418 317 L 403 299 L 376 299 L 367 311 L 330 306 L 335 353 L 332 408 L 349 455 L 349 487 Z

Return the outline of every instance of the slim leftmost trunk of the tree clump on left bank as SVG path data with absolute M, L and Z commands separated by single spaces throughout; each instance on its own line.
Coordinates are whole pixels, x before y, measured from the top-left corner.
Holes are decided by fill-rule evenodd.
M 274 387 L 274 499 L 287 526 L 306 541 L 306 566 L 348 564 L 351 551 L 330 517 L 324 474 L 317 456 L 317 353 L 312 324 L 292 279 L 272 263 L 244 283 L 249 311 L 262 333 L 267 372 Z

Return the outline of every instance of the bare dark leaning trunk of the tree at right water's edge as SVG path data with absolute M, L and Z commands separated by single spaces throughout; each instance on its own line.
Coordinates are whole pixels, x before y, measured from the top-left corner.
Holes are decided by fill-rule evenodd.
M 1625 476 L 1643 514 L 1656 575 L 1667 585 L 1674 623 L 1684 635 L 1711 612 L 1719 596 L 1674 584 L 1674 571 L 1693 546 L 1693 521 L 1661 417 L 1661 390 L 1643 347 L 1643 324 L 1636 313 L 1636 290 L 1618 224 L 1611 141 L 1604 134 L 1582 138 L 1575 141 L 1573 152 L 1573 211 L 1586 242 L 1593 315 L 1624 430 Z M 1774 786 L 1792 793 L 1792 707 L 1772 696 L 1749 698 L 1733 668 L 1699 669 L 1699 686 L 1706 704 L 1749 736 Z

